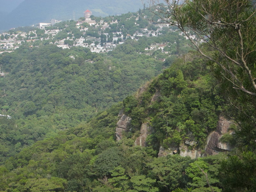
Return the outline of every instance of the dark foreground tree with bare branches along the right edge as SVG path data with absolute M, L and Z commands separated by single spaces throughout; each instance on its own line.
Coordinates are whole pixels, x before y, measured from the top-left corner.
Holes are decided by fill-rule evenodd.
M 151 1 L 152 4 L 155 2 Z M 256 152 L 256 55 L 255 44 L 252 43 L 256 40 L 255 1 L 178 0 L 165 3 L 167 7 L 155 4 L 155 8 L 158 8 L 155 13 L 166 23 L 178 27 L 196 50 L 209 60 L 220 81 L 222 98 L 227 102 L 225 112 L 236 121 L 238 127 L 235 130 L 238 147 L 236 155 L 223 162 L 223 175 L 229 179 L 225 179 L 224 190 L 254 191 L 252 183 L 255 184 L 255 166 L 247 160 L 254 161 Z M 196 44 L 189 36 L 190 33 L 197 35 L 214 52 L 204 52 L 203 46 Z M 235 168 L 235 165 L 240 167 L 238 164 L 241 162 L 246 164 L 242 172 Z M 235 178 L 239 177 L 250 178 L 252 183 L 236 182 Z

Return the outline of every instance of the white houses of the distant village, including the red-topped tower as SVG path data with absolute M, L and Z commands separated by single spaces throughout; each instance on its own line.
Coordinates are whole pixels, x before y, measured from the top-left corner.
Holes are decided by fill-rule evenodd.
M 101 27 L 101 29 L 105 29 L 105 28 L 109 27 L 108 23 L 104 22 L 104 20 L 100 20 L 99 23 L 96 23 L 95 20 L 91 20 L 91 15 L 92 15 L 92 12 L 89 10 L 86 10 L 84 12 L 84 20 L 78 20 L 76 22 L 76 27 L 78 29 L 80 29 L 80 31 L 83 32 L 83 34 L 86 34 L 86 31 L 89 29 L 88 27 L 84 27 L 82 25 L 83 23 L 88 23 L 89 25 L 95 25 L 95 27 Z M 136 19 L 138 19 L 138 18 L 136 18 Z M 52 26 L 58 22 L 60 22 L 60 21 L 52 19 L 50 23 L 39 23 L 36 26 L 37 26 L 37 28 L 40 28 L 40 29 L 46 29 L 45 27 Z M 113 24 L 113 23 L 117 23 L 117 21 L 110 22 L 110 24 Z M 147 28 L 145 28 L 145 29 L 142 29 L 140 32 L 137 31 L 134 35 L 127 34 L 126 37 L 134 39 L 135 36 L 147 36 L 147 37 L 148 36 L 156 36 L 156 35 L 160 34 L 159 31 L 162 30 L 163 27 L 167 27 L 167 26 L 168 26 L 168 24 L 157 24 L 156 31 L 148 30 Z M 3 33 L 4 36 L 7 35 L 7 36 L 9 36 L 9 38 L 0 40 L 0 50 L 10 52 L 12 50 L 19 48 L 20 44 L 25 41 L 35 42 L 35 41 L 40 41 L 40 40 L 41 41 L 48 40 L 50 38 L 53 38 L 60 31 L 61 31 L 61 29 L 45 30 L 45 34 L 48 34 L 48 36 L 49 36 L 46 38 L 38 38 L 36 36 L 35 30 L 29 31 L 28 33 L 18 32 L 17 34 L 12 34 L 12 35 L 9 33 Z M 28 39 L 27 37 L 29 37 L 29 34 L 31 34 L 31 33 L 33 33 L 35 36 L 33 36 L 33 38 Z M 0 36 L 1 35 L 2 34 L 0 34 Z M 100 32 L 99 32 L 99 35 L 100 35 Z M 104 33 L 104 35 L 108 36 L 108 33 Z M 117 42 L 118 38 L 119 38 L 118 44 L 124 43 L 123 34 L 121 32 L 116 32 L 116 33 L 113 33 L 112 42 L 104 43 L 103 46 L 101 46 L 102 44 L 101 45 L 99 44 L 99 42 L 101 40 L 100 38 L 95 38 L 95 37 L 90 37 L 90 36 L 87 36 L 86 38 L 80 37 L 80 38 L 76 39 L 72 46 L 87 47 L 91 50 L 91 52 L 108 52 L 110 50 L 113 50 L 116 47 L 116 42 Z M 56 44 L 58 47 L 70 48 L 70 45 L 67 45 L 64 43 L 64 41 L 67 39 L 73 40 L 73 37 L 67 37 L 66 39 L 55 41 L 54 44 Z M 88 41 L 90 41 L 91 43 L 86 43 Z M 0 52 L 0 53 L 2 53 L 2 52 Z

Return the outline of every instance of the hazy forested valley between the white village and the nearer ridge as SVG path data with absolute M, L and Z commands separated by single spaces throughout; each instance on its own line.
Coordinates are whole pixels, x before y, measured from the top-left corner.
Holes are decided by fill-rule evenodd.
M 178 33 L 128 40 L 108 53 L 91 53 L 83 47 L 61 49 L 56 45 L 28 47 L 0 55 L 1 114 L 12 123 L 1 124 L 1 162 L 21 148 L 89 120 L 97 111 L 110 107 L 135 92 L 159 74 L 177 57 L 176 45 L 169 60 L 158 50 L 145 52 L 150 44 L 180 41 L 187 52 L 187 40 Z M 171 43 L 170 43 L 171 44 Z M 74 55 L 75 59 L 70 58 Z M 8 127 L 8 129 L 6 129 Z

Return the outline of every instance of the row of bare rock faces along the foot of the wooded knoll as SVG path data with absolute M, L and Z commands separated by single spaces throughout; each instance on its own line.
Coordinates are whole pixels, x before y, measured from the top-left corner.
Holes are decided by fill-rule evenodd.
M 157 98 L 158 96 L 156 96 Z M 116 124 L 116 140 L 122 139 L 122 133 L 128 131 L 128 127 L 131 123 L 131 118 L 124 115 L 123 111 L 120 111 L 119 115 L 120 120 Z M 232 134 L 231 131 L 228 131 L 228 128 L 232 122 L 225 118 L 223 115 L 219 116 L 219 121 L 217 124 L 216 131 L 211 132 L 207 137 L 207 144 L 204 148 L 205 152 L 202 153 L 202 149 L 196 146 L 197 142 L 193 139 L 185 140 L 180 145 L 171 145 L 167 149 L 164 147 L 159 148 L 158 156 L 167 156 L 180 154 L 180 156 L 190 156 L 191 159 L 196 159 L 205 155 L 214 155 L 223 151 L 231 151 L 233 146 L 228 143 L 221 143 L 220 138 L 225 133 Z M 140 127 L 140 136 L 135 140 L 135 145 L 146 147 L 146 139 L 148 135 L 154 132 L 154 128 L 149 125 L 149 123 L 144 123 Z

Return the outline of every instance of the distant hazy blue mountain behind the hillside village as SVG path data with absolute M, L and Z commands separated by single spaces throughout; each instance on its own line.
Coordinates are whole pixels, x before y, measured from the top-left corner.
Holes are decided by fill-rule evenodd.
M 16 0 L 18 1 L 18 0 Z M 21 0 L 20 0 L 21 1 Z M 141 0 L 24 0 L 0 20 L 0 30 L 83 17 L 87 9 L 95 16 L 119 15 L 143 8 Z

